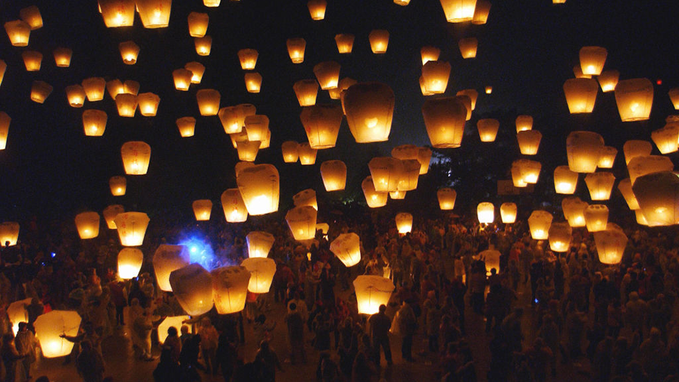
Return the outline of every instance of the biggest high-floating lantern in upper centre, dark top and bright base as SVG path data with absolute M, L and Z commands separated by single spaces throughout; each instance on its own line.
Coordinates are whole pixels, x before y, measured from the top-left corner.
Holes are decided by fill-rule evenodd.
M 394 115 L 394 91 L 384 83 L 356 83 L 342 93 L 342 106 L 356 143 L 389 138 Z

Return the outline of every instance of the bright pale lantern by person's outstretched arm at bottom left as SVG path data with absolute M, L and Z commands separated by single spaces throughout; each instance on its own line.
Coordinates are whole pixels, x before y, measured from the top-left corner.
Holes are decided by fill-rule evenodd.
M 35 319 L 35 337 L 40 343 L 42 356 L 56 358 L 67 356 L 73 350 L 73 342 L 61 335 L 75 337 L 80 329 L 80 315 L 74 310 L 52 310 Z

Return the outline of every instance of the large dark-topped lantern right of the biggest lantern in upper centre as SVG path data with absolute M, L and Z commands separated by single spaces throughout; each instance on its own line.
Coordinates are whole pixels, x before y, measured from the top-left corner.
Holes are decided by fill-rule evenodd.
M 458 148 L 462 144 L 467 108 L 455 97 L 426 100 L 424 125 L 434 148 Z

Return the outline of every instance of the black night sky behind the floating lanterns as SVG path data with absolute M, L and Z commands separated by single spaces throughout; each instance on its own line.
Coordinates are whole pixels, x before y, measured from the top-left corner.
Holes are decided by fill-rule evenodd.
M 220 214 L 218 199 L 224 189 L 236 186 L 233 166 L 237 153 L 215 117 L 201 117 L 195 102 L 200 88 L 221 92 L 221 106 L 251 103 L 257 113 L 271 120 L 271 148 L 262 150 L 257 163 L 273 163 L 282 180 L 281 200 L 315 186 L 323 193 L 319 165 L 327 159 L 342 159 L 351 186 L 360 187 L 368 173 L 367 161 L 388 155 L 395 145 L 429 144 L 420 108 L 420 48 L 433 45 L 442 50 L 440 60 L 452 65 L 447 95 L 464 88 L 479 91 L 474 120 L 500 113 L 532 114 L 545 134 L 543 156 L 554 152 L 565 157 L 563 138 L 575 129 L 600 132 L 607 144 L 622 151 L 627 138 L 650 139 L 650 131 L 662 127 L 673 113 L 667 91 L 679 86 L 679 48 L 674 1 L 578 1 L 554 6 L 550 0 L 493 1 L 488 24 L 448 24 L 438 1 L 412 0 L 406 7 L 388 0 L 328 0 L 326 19 L 312 21 L 305 1 L 223 0 L 218 8 L 206 8 L 202 1 L 174 1 L 170 27 L 144 29 L 136 16 L 135 25 L 107 29 L 95 1 L 6 1 L 0 8 L 2 22 L 19 18 L 19 9 L 35 4 L 45 26 L 31 33 L 28 48 L 12 47 L 6 35 L 0 38 L 0 58 L 8 65 L 0 86 L 0 110 L 12 118 L 7 149 L 0 151 L 0 221 L 20 220 L 38 215 L 70 218 L 83 209 L 101 212 L 119 203 L 126 209 L 152 211 L 176 208 L 190 214 L 191 201 L 210 198 Z M 191 11 L 208 13 L 208 34 L 213 38 L 210 56 L 198 56 L 189 36 L 186 17 Z M 372 29 L 390 31 L 389 48 L 376 56 L 369 48 Z M 337 53 L 334 36 L 353 33 L 353 53 Z M 4 33 L 3 33 L 4 34 Z M 305 61 L 291 63 L 285 40 L 307 41 Z M 479 40 L 477 58 L 463 60 L 460 38 Z M 118 43 L 134 40 L 140 47 L 136 65 L 122 63 Z M 599 93 L 595 113 L 570 116 L 562 86 L 573 77 L 578 50 L 585 45 L 608 49 L 605 69 L 621 72 L 621 79 L 647 77 L 655 86 L 650 122 L 622 124 L 612 93 Z M 51 51 L 70 47 L 71 66 L 56 67 Z M 264 78 L 262 92 L 246 92 L 237 51 L 259 51 L 256 71 Z M 40 72 L 26 72 L 21 58 L 25 49 L 44 55 Z M 334 60 L 342 65 L 340 78 L 388 83 L 396 94 L 394 123 L 387 143 L 356 144 L 342 123 L 338 147 L 319 152 L 317 164 L 282 164 L 280 144 L 287 140 L 306 141 L 292 85 L 313 79 L 313 66 Z M 202 83 L 189 92 L 174 89 L 171 73 L 189 61 L 207 67 Z M 88 77 L 134 79 L 141 93 L 161 97 L 158 116 L 120 118 L 107 94 L 103 101 L 86 102 L 82 109 L 68 106 L 65 86 Z M 45 104 L 29 100 L 31 83 L 38 79 L 54 86 Z M 493 94 L 483 94 L 492 85 Z M 319 92 L 319 103 L 331 101 Z M 102 137 L 83 134 L 81 113 L 102 109 L 109 115 Z M 175 120 L 195 116 L 195 136 L 180 138 Z M 472 122 L 467 129 L 474 132 Z M 501 129 L 513 130 L 513 125 Z M 468 134 L 465 140 L 478 141 Z M 510 134 L 513 139 L 513 134 Z M 151 145 L 149 172 L 127 176 L 127 196 L 114 198 L 108 180 L 124 175 L 120 146 L 126 141 Z M 515 144 L 515 143 L 513 143 Z M 465 142 L 463 142 L 465 145 Z M 454 150 L 454 149 L 453 149 Z M 547 150 L 545 152 L 545 150 Z M 518 157 L 518 156 L 517 156 Z M 494 166 L 509 166 L 516 159 L 498 158 Z M 672 156 L 676 161 L 676 157 Z M 551 172 L 549 168 L 548 172 Z M 583 185 L 584 186 L 584 185 Z M 486 190 L 487 191 L 487 190 Z

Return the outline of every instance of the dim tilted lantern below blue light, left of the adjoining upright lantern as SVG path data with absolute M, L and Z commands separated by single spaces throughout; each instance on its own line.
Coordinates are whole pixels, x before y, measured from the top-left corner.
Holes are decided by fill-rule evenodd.
M 170 286 L 177 303 L 190 316 L 212 309 L 212 276 L 200 264 L 189 264 L 170 273 Z

